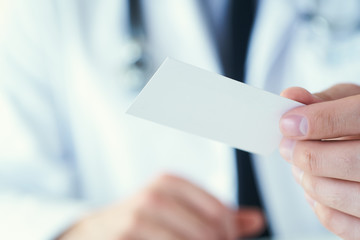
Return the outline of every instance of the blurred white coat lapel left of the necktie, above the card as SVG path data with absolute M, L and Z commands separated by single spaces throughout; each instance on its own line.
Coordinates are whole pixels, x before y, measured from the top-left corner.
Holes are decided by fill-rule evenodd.
M 214 40 L 201 4 L 194 0 L 143 1 L 149 42 L 157 64 L 173 57 L 221 72 Z

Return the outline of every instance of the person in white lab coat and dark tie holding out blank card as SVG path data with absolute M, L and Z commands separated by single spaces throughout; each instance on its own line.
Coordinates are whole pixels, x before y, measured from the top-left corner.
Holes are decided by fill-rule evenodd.
M 224 26 L 231 4 L 242 1 L 141 1 L 142 19 L 129 17 L 131 2 L 2 4 L 0 238 L 235 239 L 263 230 L 259 209 L 235 210 L 232 149 L 124 114 L 166 56 L 228 73 Z M 326 27 L 340 7 L 340 17 L 354 16 L 357 1 L 320 2 L 257 2 L 247 83 L 280 93 L 357 82 L 356 18 L 339 27 L 339 39 Z M 253 156 L 275 237 L 328 236 L 321 223 L 359 237 L 358 90 L 283 92 L 309 105 L 284 115 L 280 152 L 311 204 L 278 153 Z

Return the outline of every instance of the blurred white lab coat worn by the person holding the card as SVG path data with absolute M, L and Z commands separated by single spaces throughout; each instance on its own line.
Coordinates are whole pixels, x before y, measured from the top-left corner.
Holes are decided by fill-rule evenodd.
M 135 97 L 124 77 L 125 2 L 12 0 L 2 8 L 0 239 L 56 236 L 88 210 L 121 201 L 164 171 L 235 204 L 231 149 L 124 114 Z M 144 5 L 154 65 L 170 56 L 221 73 L 196 1 Z M 268 88 L 293 24 L 285 0 L 260 2 L 249 83 Z M 274 233 L 324 231 L 299 197 L 289 166 L 273 158 L 256 159 L 256 166 Z

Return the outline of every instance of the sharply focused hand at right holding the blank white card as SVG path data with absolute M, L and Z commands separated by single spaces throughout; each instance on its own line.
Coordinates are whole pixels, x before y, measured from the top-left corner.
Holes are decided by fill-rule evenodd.
M 308 104 L 282 117 L 281 155 L 322 224 L 360 239 L 360 87 L 340 84 L 317 94 L 289 88 L 282 96 Z

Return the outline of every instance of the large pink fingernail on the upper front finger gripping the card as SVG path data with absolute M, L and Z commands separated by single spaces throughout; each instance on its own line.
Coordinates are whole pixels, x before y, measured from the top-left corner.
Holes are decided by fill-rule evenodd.
M 299 115 L 290 115 L 280 120 L 280 129 L 284 136 L 301 137 L 306 136 L 308 131 L 308 121 Z

